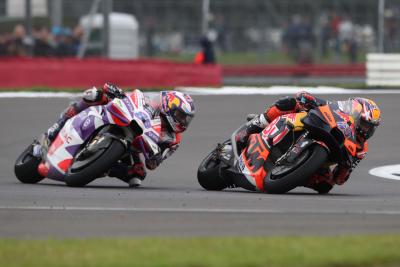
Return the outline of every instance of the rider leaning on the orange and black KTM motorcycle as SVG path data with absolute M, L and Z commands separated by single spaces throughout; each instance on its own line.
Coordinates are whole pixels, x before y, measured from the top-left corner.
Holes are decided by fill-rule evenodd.
M 244 147 L 251 134 L 261 132 L 268 123 L 279 116 L 308 111 L 325 103 L 327 103 L 326 100 L 316 98 L 305 91 L 298 93 L 295 97 L 280 98 L 264 113 L 248 115 L 249 122 L 236 134 L 236 143 L 239 147 Z M 357 153 L 351 162 L 340 162 L 334 168 L 324 166 L 311 177 L 308 184 L 304 185 L 321 194 L 328 193 L 335 184 L 342 185 L 349 179 L 352 170 L 365 157 L 368 151 L 367 140 L 372 137 L 381 121 L 380 109 L 370 99 L 349 98 L 345 101 L 338 101 L 337 104 L 342 112 L 352 116 L 355 121 Z

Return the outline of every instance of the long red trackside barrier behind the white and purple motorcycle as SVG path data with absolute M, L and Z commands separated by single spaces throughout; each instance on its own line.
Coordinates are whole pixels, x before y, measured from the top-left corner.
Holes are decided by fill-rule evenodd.
M 218 65 L 163 60 L 1 58 L 1 88 L 85 88 L 105 81 L 123 87 L 220 86 Z

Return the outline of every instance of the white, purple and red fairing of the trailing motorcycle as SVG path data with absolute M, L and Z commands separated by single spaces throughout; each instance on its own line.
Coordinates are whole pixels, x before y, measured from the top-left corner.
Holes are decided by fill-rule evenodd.
M 44 162 L 48 178 L 63 181 L 74 156 L 97 129 L 108 124 L 129 127 L 133 121 L 142 130 L 135 140 L 142 144 L 145 150 L 142 152 L 145 155 L 158 153 L 160 123 L 152 120 L 151 113 L 145 108 L 143 93 L 135 90 L 124 99 L 116 98 L 106 105 L 89 107 L 66 122 L 49 147 Z

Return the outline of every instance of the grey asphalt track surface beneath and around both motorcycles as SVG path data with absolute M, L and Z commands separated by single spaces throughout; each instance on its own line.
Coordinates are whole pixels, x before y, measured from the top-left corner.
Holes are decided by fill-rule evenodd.
M 197 167 L 217 142 L 278 96 L 195 96 L 198 114 L 182 146 L 143 186 L 112 178 L 85 188 L 44 180 L 19 183 L 14 161 L 68 99 L 0 99 L 0 237 L 336 235 L 400 231 L 400 181 L 368 174 L 399 164 L 400 95 L 371 96 L 384 123 L 350 181 L 328 195 L 306 188 L 285 195 L 208 192 Z M 337 100 L 340 96 L 324 96 Z M 343 96 L 348 97 L 348 96 Z

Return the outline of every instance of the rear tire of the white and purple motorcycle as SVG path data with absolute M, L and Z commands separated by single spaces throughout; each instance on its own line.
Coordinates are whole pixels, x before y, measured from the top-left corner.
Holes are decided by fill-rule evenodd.
M 37 170 L 40 162 L 40 158 L 32 155 L 32 145 L 30 145 L 24 150 L 24 152 L 22 152 L 15 162 L 15 176 L 24 184 L 36 184 L 40 182 L 44 179 Z

